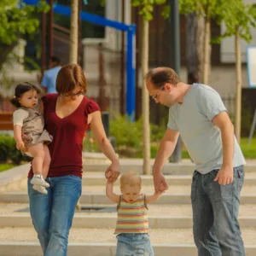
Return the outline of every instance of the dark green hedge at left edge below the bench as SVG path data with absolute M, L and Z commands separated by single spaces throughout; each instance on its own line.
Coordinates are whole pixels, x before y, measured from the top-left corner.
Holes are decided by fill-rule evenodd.
M 23 156 L 20 150 L 16 148 L 15 138 L 9 134 L 0 134 L 0 162 L 6 163 L 10 161 L 15 165 L 19 165 L 21 161 L 31 160 L 28 156 Z

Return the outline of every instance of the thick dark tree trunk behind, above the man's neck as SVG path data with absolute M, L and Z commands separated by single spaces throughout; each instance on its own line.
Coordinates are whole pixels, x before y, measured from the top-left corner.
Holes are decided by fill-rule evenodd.
M 197 16 L 195 13 L 187 15 L 187 70 L 188 74 L 193 74 L 198 78 L 199 56 L 197 51 Z

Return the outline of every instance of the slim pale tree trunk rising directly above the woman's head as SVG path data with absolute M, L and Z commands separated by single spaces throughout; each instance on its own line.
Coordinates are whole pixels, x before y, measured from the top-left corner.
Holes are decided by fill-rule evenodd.
M 70 63 L 78 63 L 79 50 L 79 0 L 72 0 L 71 3 L 71 20 L 70 20 Z

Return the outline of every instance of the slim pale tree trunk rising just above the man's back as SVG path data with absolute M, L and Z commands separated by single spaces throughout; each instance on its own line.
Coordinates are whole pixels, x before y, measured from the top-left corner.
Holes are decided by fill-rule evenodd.
M 203 84 L 209 84 L 210 75 L 210 61 L 211 61 L 211 51 L 210 51 L 210 40 L 211 40 L 211 20 L 205 18 L 205 38 L 204 38 L 204 59 L 203 59 Z

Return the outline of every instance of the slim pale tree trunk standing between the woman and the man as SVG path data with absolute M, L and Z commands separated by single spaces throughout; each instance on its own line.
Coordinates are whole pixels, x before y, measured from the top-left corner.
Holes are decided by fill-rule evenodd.
M 148 73 L 148 28 L 149 23 L 143 19 L 142 71 L 143 78 Z M 150 125 L 149 96 L 146 81 L 143 79 L 143 174 L 150 173 Z

